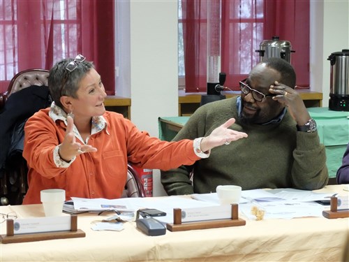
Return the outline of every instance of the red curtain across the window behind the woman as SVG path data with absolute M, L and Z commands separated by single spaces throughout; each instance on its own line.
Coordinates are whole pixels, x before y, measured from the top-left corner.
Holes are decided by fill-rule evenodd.
M 81 53 L 94 61 L 107 94 L 114 95 L 113 36 L 113 0 L 2 0 L 0 92 L 20 71 L 50 70 Z

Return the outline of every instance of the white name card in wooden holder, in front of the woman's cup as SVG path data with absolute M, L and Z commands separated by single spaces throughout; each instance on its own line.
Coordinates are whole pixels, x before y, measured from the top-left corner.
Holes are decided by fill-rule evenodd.
M 13 223 L 14 234 L 70 231 L 70 219 L 70 215 L 15 219 Z

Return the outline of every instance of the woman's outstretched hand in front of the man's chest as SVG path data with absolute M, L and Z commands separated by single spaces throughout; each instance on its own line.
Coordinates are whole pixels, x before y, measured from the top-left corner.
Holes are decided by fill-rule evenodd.
M 230 142 L 239 140 L 240 138 L 247 138 L 247 133 L 229 129 L 229 126 L 235 123 L 234 118 L 230 118 L 227 122 L 218 126 L 212 133 L 203 138 L 201 141 L 201 151 L 207 152 L 219 145 L 229 145 Z

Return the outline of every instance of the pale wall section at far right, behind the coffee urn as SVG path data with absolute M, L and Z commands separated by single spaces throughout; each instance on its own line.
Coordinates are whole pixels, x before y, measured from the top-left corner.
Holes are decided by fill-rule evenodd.
M 322 92 L 322 106 L 329 103 L 332 52 L 349 49 L 349 1 L 311 1 L 311 90 Z

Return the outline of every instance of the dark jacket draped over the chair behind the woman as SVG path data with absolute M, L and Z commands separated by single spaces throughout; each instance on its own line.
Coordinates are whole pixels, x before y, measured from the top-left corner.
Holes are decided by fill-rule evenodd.
M 0 204 L 20 205 L 27 192 L 27 163 L 22 157 L 24 124 L 50 107 L 48 87 L 32 85 L 11 94 L 0 113 Z

